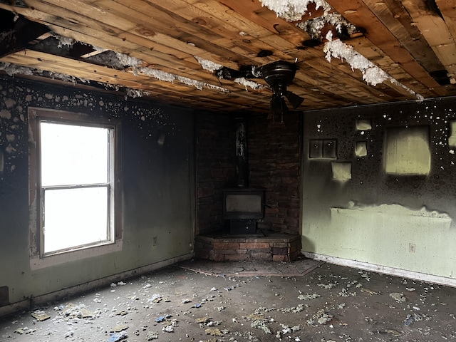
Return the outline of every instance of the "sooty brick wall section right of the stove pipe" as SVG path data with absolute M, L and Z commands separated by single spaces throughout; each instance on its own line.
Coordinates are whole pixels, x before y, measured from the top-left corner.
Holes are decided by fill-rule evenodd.
M 266 214 L 259 228 L 291 234 L 301 231 L 301 115 L 284 115 L 284 123 L 264 116 L 249 119 L 250 185 L 266 188 Z

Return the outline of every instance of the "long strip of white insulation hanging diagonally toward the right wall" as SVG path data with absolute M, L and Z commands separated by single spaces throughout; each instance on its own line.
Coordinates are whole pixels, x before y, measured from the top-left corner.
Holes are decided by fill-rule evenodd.
M 368 58 L 355 51 L 353 46 L 349 46 L 339 39 L 333 40 L 333 33 L 331 31 L 326 35 L 326 39 L 328 41 L 323 46 L 323 52 L 326 53 L 326 60 L 328 62 L 331 63 L 332 58 L 345 59 L 345 61 L 350 64 L 351 70 L 358 69 L 363 73 L 363 80 L 366 81 L 366 83 L 376 86 L 378 83 L 383 83 L 388 80 L 396 86 L 400 86 L 407 90 L 408 93 L 414 95 L 418 100 L 424 100 L 422 95 L 415 93 L 415 91 L 396 81 L 395 78 L 388 75 L 388 73 L 378 66 L 375 66 Z

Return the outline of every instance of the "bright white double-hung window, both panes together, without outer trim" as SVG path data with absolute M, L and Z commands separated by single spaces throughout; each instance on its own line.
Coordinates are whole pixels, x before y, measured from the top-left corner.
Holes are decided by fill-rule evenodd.
M 113 242 L 113 128 L 40 121 L 43 253 Z

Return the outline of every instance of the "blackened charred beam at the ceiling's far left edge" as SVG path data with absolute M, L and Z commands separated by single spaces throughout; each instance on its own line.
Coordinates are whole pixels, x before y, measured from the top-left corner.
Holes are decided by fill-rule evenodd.
M 43 24 L 0 10 L 0 58 L 21 51 L 50 30 Z

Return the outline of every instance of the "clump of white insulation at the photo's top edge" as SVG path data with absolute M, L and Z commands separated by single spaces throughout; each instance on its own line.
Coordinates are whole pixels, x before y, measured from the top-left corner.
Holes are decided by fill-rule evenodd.
M 316 5 L 316 9 L 323 8 L 325 15 L 332 9 L 331 5 L 324 0 L 260 0 L 260 2 L 286 21 L 300 20 L 311 3 Z

